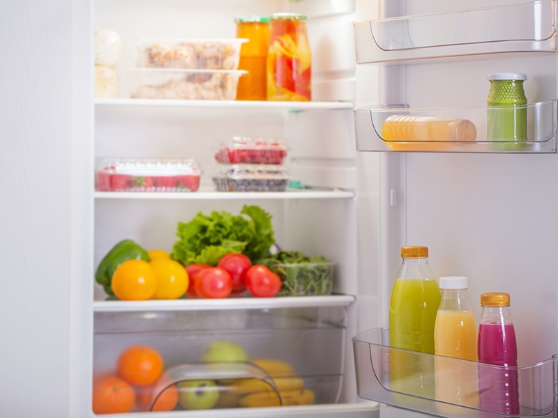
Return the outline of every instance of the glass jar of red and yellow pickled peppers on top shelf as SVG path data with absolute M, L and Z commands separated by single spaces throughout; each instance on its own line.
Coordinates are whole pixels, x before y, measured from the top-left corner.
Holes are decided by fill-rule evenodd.
M 312 54 L 307 20 L 308 17 L 297 13 L 271 15 L 267 100 L 311 100 Z

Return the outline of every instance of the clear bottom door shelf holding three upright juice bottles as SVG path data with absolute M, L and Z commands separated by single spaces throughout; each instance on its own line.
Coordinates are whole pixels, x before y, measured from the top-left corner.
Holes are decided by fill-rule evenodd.
M 450 357 L 419 353 L 412 350 L 402 350 L 389 346 L 389 330 L 368 330 L 353 338 L 354 361 L 356 366 L 356 385 L 361 398 L 395 405 L 400 408 L 413 409 L 432 415 L 453 418 L 497 417 L 492 410 L 478 407 L 478 393 L 472 396 L 475 402 L 468 406 L 450 402 L 437 401 L 435 396 L 412 394 L 407 380 L 405 387 L 395 387 L 391 382 L 390 356 L 405 357 L 409 364 L 420 362 L 420 373 L 424 381 L 435 385 L 435 362 L 445 362 L 445 369 L 459 370 L 461 373 L 475 373 L 478 382 L 483 385 L 483 378 L 488 373 L 508 373 L 517 376 L 519 392 L 519 414 L 505 415 L 513 417 L 555 417 L 557 410 L 557 365 L 558 357 L 546 359 L 536 364 L 519 367 L 492 366 L 469 362 L 467 360 L 452 359 Z M 407 377 L 408 378 L 408 377 Z M 412 378 L 412 376 L 411 376 Z M 401 385 L 401 383 L 399 383 Z M 415 386 L 416 387 L 416 386 Z M 434 387 L 425 387 L 425 392 L 435 393 Z M 475 389 L 478 391 L 478 389 Z M 490 389 L 489 389 L 490 390 Z

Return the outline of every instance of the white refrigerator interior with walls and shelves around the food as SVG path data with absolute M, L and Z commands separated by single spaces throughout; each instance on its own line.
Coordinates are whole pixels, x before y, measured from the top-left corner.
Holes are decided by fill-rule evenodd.
M 236 298 L 200 306 L 172 301 L 157 304 L 154 309 L 142 304 L 113 309 L 111 302 L 105 302 L 103 288 L 95 284 L 93 374 L 113 370 L 118 354 L 132 343 L 143 341 L 160 347 L 167 366 L 199 362 L 204 346 L 221 337 L 241 343 L 250 357 L 280 358 L 296 366 L 305 387 L 315 389 L 317 398 L 312 406 L 289 407 L 289 416 L 377 415 L 376 403 L 356 396 L 351 342 L 359 327 L 359 316 L 365 311 L 366 316 L 375 312 L 365 301 L 365 293 L 363 307 L 355 302 L 355 295 L 361 294 L 352 114 L 355 1 L 95 0 L 93 8 L 93 26 L 112 29 L 123 41 L 116 66 L 119 98 L 96 100 L 95 157 L 193 158 L 202 168 L 200 189 L 188 196 L 159 198 L 137 193 L 114 197 L 96 193 L 93 264 L 98 265 L 112 245 L 124 238 L 149 249 L 171 251 L 178 222 L 188 222 L 198 212 L 227 210 L 237 214 L 244 205 L 261 206 L 272 215 L 276 242 L 282 249 L 322 255 L 335 263 L 334 295 L 322 302 L 312 297 L 262 302 Z M 176 104 L 165 100 L 135 104 L 128 99 L 127 71 L 135 67 L 140 36 L 234 38 L 234 17 L 278 11 L 309 16 L 312 101 L 324 103 L 323 107 L 312 103 Z M 213 192 L 211 177 L 218 170 L 213 155 L 221 143 L 234 135 L 285 139 L 292 178 L 312 187 L 310 194 L 298 197 L 293 193 Z M 315 196 L 312 192 L 316 192 Z M 85 410 L 88 407 L 84 405 Z M 218 413 L 282 416 L 285 411 L 229 408 Z

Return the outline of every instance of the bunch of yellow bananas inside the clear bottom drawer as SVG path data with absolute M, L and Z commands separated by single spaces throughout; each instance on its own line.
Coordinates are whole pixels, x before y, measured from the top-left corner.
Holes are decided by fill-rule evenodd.
M 271 376 L 280 398 L 275 389 L 269 385 L 269 382 L 264 380 L 234 380 L 227 385 L 226 392 L 221 394 L 218 407 L 259 408 L 279 405 L 311 405 L 314 403 L 314 392 L 305 389 L 304 380 L 296 377 L 291 364 L 278 359 L 250 359 L 250 363 L 255 364 Z

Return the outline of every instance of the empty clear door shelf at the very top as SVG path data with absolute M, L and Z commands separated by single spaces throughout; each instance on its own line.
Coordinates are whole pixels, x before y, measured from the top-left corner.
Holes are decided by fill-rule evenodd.
M 354 24 L 356 63 L 556 52 L 555 0 Z

